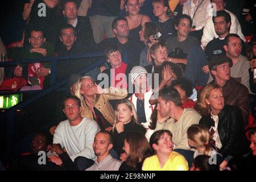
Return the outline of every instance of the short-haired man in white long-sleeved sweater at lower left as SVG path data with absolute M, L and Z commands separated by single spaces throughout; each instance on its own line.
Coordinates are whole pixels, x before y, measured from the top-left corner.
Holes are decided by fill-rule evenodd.
M 52 151 L 55 151 L 56 148 L 55 152 L 60 153 L 57 151 L 59 150 L 57 146 L 60 145 L 64 152 L 67 151 L 72 161 L 78 156 L 93 160 L 96 158 L 93 151 L 93 140 L 100 131 L 100 127 L 93 119 L 82 118 L 81 111 L 80 99 L 76 96 L 68 96 L 64 101 L 63 109 L 68 119 L 59 123 L 53 135 Z M 62 163 L 61 158 L 56 155 L 50 160 L 59 165 Z

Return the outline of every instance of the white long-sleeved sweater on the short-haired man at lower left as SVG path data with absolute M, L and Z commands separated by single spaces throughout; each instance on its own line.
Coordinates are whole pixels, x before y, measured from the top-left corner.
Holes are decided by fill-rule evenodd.
M 95 159 L 93 141 L 100 127 L 93 119 L 83 118 L 77 126 L 71 126 L 68 120 L 59 123 L 53 135 L 53 143 L 65 147 L 74 161 L 77 156 Z

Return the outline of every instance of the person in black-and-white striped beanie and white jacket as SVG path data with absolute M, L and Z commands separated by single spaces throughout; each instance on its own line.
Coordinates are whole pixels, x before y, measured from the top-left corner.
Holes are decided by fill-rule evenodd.
M 152 133 L 148 126 L 151 122 L 151 114 L 155 105 L 149 103 L 150 97 L 153 93 L 148 86 L 147 70 L 141 66 L 135 66 L 130 71 L 131 83 L 135 86 L 135 93 L 129 98 L 136 109 L 138 115 L 138 122 L 147 129 L 146 137 L 149 140 Z

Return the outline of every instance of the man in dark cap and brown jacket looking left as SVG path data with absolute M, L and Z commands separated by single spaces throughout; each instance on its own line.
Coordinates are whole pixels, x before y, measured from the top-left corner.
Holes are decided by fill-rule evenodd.
M 241 109 L 244 126 L 247 126 L 249 116 L 249 91 L 246 86 L 230 77 L 230 67 L 233 62 L 228 56 L 216 55 L 209 61 L 210 74 L 213 81 L 222 87 L 226 105 L 237 106 Z

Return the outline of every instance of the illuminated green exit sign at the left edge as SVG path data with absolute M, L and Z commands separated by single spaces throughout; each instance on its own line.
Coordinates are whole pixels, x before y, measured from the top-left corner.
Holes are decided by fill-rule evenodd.
M 0 109 L 9 109 L 22 101 L 22 94 L 0 96 Z

